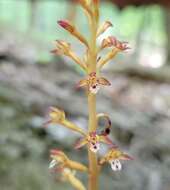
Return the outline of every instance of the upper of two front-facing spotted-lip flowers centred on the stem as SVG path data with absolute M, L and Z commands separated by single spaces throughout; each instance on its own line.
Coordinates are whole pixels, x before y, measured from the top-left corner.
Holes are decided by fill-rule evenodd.
M 99 91 L 101 85 L 110 86 L 111 83 L 103 77 L 96 76 L 96 72 L 92 72 L 86 79 L 80 80 L 77 86 L 85 86 L 91 93 L 96 94 Z

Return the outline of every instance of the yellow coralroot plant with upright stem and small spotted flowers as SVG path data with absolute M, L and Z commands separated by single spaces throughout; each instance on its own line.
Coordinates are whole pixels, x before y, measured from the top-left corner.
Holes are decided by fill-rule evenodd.
M 53 149 L 50 152 L 51 162 L 49 168 L 60 174 L 63 181 L 69 182 L 77 190 L 85 190 L 86 187 L 77 177 L 77 172 L 88 174 L 88 189 L 98 189 L 98 178 L 102 166 L 109 163 L 113 171 L 122 169 L 122 160 L 131 160 L 132 158 L 122 152 L 108 137 L 111 130 L 111 120 L 107 114 L 96 112 L 96 94 L 103 86 L 110 86 L 111 83 L 101 75 L 101 70 L 118 53 L 129 49 L 127 42 L 121 42 L 113 36 L 102 40 L 101 45 L 97 45 L 98 37 L 112 26 L 111 22 L 106 21 L 99 25 L 99 0 L 78 0 L 88 18 L 90 39 L 86 39 L 76 26 L 69 21 L 60 20 L 58 24 L 77 38 L 86 48 L 83 58 L 72 50 L 71 44 L 63 40 L 56 41 L 56 48 L 52 53 L 56 55 L 65 55 L 78 64 L 85 73 L 85 77 L 77 83 L 77 87 L 83 87 L 87 94 L 89 121 L 86 130 L 83 130 L 73 122 L 67 119 L 65 112 L 55 107 L 50 107 L 48 112 L 49 119 L 45 123 L 60 124 L 71 131 L 80 134 L 80 139 L 75 144 L 76 149 L 87 147 L 88 166 L 77 161 L 71 160 L 63 151 Z M 99 53 L 108 48 L 108 53 L 100 57 Z M 98 129 L 99 119 L 106 121 L 103 130 Z M 98 129 L 98 130 L 97 130 Z M 102 144 L 109 148 L 108 152 L 99 158 L 98 152 Z

